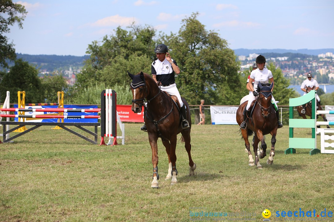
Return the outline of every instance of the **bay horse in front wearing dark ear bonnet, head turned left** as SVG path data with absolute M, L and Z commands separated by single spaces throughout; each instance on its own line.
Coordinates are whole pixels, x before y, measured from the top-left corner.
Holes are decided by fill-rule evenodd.
M 153 80 L 153 78 L 143 72 L 133 75 L 129 73 L 132 79 L 132 107 L 134 113 L 142 111 L 142 106 L 146 106 L 145 124 L 147 127 L 148 139 L 152 149 L 152 164 L 153 164 L 153 181 L 152 188 L 159 188 L 159 174 L 158 174 L 158 145 L 157 140 L 160 137 L 163 145 L 166 148 L 168 155 L 168 174 L 166 180 L 172 178 L 171 185 L 177 183 L 176 175 L 176 141 L 177 134 L 181 132 L 182 142 L 185 143 L 185 148 L 189 157 L 189 175 L 194 175 L 196 164 L 191 159 L 191 144 L 190 144 L 190 130 L 191 117 L 188 103 L 182 98 L 182 102 L 186 106 L 187 120 L 189 128 L 182 129 L 180 108 L 173 101 L 170 95 L 161 91 L 160 87 Z

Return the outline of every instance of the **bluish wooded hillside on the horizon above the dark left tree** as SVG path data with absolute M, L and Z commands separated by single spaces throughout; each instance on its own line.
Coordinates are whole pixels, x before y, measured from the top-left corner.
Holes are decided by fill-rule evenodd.
M 28 55 L 18 53 L 17 59 L 22 59 L 30 64 L 36 65 L 41 71 L 53 72 L 60 70 L 69 70 L 71 67 L 73 70 L 81 69 L 83 62 L 89 58 L 89 56 L 57 56 L 57 55 Z M 8 61 L 9 66 L 13 66 L 13 62 Z

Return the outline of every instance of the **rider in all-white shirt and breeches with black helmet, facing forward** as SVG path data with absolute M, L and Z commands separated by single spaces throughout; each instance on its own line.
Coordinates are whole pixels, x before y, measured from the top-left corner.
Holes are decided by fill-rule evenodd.
M 265 84 L 265 83 L 269 83 L 269 80 L 270 80 L 271 83 L 274 83 L 273 74 L 270 70 L 265 68 L 265 64 L 266 64 L 266 58 L 262 55 L 259 55 L 256 58 L 256 65 L 257 65 L 258 68 L 253 70 L 251 72 L 251 76 L 249 77 L 248 88 L 249 88 L 250 91 L 252 91 L 252 93 L 250 93 L 248 95 L 248 103 L 247 103 L 247 106 L 245 107 L 245 109 L 243 111 L 243 122 L 240 124 L 241 129 L 246 129 L 247 115 L 250 115 L 248 110 L 251 107 L 252 102 L 254 100 L 256 100 L 256 98 L 259 96 L 259 94 L 257 92 L 259 90 L 258 89 L 259 88 L 259 82 L 261 82 L 261 84 Z M 254 81 L 254 86 L 252 85 L 253 81 Z M 274 90 L 274 85 L 273 85 L 273 88 L 272 88 L 272 92 Z M 276 111 L 277 128 L 281 128 L 281 127 L 283 127 L 283 124 L 279 120 L 279 111 L 278 111 L 278 107 L 277 107 L 277 104 L 276 104 L 276 100 L 274 99 L 273 96 L 272 96 L 272 103 L 273 103 L 275 111 Z

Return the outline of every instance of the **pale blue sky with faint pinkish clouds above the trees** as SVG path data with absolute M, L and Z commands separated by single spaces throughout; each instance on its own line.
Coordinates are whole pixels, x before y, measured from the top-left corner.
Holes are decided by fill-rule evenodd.
M 177 33 L 181 20 L 198 12 L 231 49 L 334 48 L 333 0 L 18 1 L 28 14 L 23 29 L 7 34 L 17 53 L 83 56 L 93 41 L 102 41 L 118 26 L 153 26 Z

